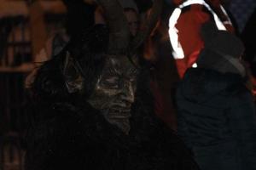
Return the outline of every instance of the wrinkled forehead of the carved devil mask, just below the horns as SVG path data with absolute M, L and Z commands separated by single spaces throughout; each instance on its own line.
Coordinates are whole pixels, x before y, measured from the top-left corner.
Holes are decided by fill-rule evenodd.
M 107 55 L 106 65 L 110 71 L 123 76 L 137 76 L 137 59 L 128 59 L 125 55 Z

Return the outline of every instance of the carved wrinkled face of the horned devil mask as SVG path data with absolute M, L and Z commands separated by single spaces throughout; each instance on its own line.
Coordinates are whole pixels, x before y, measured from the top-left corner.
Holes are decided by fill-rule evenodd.
M 90 99 L 90 105 L 102 111 L 108 122 L 130 130 L 131 104 L 137 86 L 137 68 L 126 56 L 108 55 L 102 75 Z

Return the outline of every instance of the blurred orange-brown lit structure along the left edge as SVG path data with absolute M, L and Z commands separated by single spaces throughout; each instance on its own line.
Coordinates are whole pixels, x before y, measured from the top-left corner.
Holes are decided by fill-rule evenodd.
M 22 169 L 28 124 L 25 78 L 47 39 L 63 32 L 61 1 L 0 1 L 0 169 Z M 40 59 L 42 61 L 42 59 Z M 43 59 L 44 60 L 44 59 Z

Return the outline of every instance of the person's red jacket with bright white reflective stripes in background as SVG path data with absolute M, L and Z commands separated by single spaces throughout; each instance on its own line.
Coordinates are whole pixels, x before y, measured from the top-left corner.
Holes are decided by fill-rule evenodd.
M 195 64 L 204 42 L 200 37 L 201 25 L 208 20 L 215 22 L 218 30 L 233 32 L 230 17 L 218 0 L 175 0 L 177 4 L 169 20 L 172 55 L 180 77 Z

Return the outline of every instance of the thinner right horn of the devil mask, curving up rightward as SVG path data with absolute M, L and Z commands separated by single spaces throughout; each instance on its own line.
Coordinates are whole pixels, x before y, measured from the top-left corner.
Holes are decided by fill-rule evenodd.
M 159 19 L 161 10 L 162 10 L 163 1 L 154 0 L 151 12 L 148 16 L 148 19 L 144 22 L 143 29 L 137 33 L 137 36 L 131 42 L 131 51 L 135 51 L 149 36 L 151 31 L 154 29 L 157 20 Z

